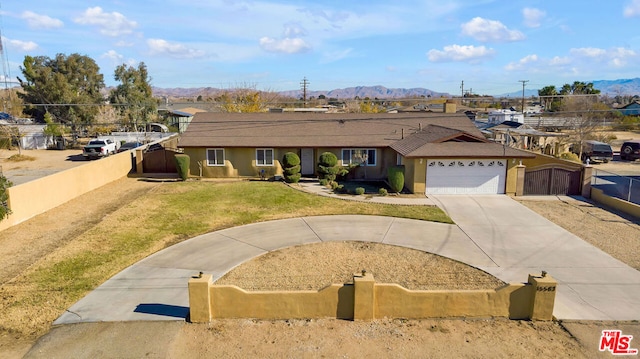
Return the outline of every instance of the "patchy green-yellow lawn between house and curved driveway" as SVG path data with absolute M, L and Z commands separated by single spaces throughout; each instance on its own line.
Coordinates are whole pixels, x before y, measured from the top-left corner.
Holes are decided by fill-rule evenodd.
M 255 222 L 338 214 L 451 223 L 437 207 L 345 201 L 278 182 L 164 183 L 106 214 L 18 278 L 15 293 L 4 293 L 0 329 L 42 333 L 64 310 L 114 274 L 194 236 Z M 21 320 L 25 316 L 29 322 Z

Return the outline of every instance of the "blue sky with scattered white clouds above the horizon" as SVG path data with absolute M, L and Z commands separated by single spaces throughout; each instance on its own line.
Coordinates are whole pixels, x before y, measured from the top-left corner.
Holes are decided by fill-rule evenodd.
M 640 0 L 21 0 L 0 2 L 4 74 L 78 53 L 117 85 L 496 95 L 640 77 Z M 4 75 L 3 75 L 4 76 Z

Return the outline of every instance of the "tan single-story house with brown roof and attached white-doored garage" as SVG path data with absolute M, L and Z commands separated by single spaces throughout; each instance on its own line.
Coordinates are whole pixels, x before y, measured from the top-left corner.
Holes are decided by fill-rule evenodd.
M 403 165 L 413 193 L 512 193 L 517 159 L 535 155 L 491 143 L 462 113 L 197 113 L 178 147 L 191 175 L 280 176 L 286 152 L 314 176 L 323 152 L 358 164 L 353 179 L 384 180 Z

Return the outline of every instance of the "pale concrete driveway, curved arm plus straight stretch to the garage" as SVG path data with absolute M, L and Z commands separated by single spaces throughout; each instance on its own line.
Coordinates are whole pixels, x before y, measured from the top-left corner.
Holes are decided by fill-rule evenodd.
M 272 250 L 324 241 L 370 241 L 436 253 L 506 282 L 546 270 L 558 279 L 559 319 L 640 319 L 640 272 L 507 196 L 436 196 L 448 225 L 379 216 L 318 216 L 250 224 L 201 235 L 127 268 L 54 324 L 184 320 L 187 281 L 214 280 Z

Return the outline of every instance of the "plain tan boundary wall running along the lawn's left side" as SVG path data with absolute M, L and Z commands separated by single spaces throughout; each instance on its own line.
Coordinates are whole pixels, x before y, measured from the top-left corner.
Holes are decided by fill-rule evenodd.
M 82 166 L 9 187 L 11 214 L 0 222 L 0 230 L 35 217 L 80 195 L 127 176 L 131 153 L 125 151 Z

